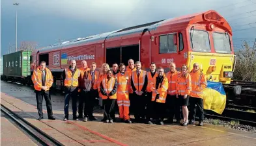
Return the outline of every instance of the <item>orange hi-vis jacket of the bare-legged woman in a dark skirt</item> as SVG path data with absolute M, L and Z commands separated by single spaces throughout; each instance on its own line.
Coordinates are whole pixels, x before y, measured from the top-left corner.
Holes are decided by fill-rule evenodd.
M 190 95 L 191 88 L 191 77 L 189 73 L 183 76 L 182 73 L 178 73 L 176 81 L 176 94 L 178 95 Z

